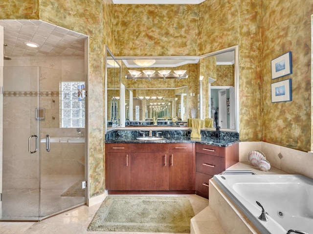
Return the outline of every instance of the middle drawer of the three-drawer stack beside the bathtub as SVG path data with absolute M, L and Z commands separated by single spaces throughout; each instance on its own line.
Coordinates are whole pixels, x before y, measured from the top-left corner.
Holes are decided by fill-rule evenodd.
M 216 175 L 220 174 L 225 170 L 225 158 L 196 154 L 196 172 L 201 172 L 207 175 Z

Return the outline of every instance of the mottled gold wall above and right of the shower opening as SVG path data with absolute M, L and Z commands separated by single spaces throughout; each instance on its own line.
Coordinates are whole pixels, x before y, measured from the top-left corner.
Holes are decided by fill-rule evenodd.
M 105 44 L 114 53 L 112 0 L 2 0 L 0 19 L 40 19 L 89 36 L 89 193 L 103 194 L 103 58 Z

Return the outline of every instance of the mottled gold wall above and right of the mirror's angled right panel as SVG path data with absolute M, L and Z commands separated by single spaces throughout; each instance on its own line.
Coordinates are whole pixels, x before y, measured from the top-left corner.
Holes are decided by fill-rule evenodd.
M 239 134 L 242 141 L 262 140 L 261 3 L 205 0 L 200 4 L 200 53 L 239 45 Z

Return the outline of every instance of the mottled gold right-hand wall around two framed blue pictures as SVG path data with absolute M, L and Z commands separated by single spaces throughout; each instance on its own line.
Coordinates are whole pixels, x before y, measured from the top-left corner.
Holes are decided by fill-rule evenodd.
M 263 141 L 311 150 L 312 0 L 263 0 Z M 293 74 L 271 79 L 271 59 L 292 53 Z M 291 78 L 292 101 L 271 102 L 270 84 Z

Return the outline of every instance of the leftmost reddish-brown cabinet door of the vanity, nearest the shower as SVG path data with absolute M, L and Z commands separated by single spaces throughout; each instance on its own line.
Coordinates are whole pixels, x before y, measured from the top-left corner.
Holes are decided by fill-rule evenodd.
M 106 189 L 131 189 L 131 155 L 129 153 L 107 153 Z

